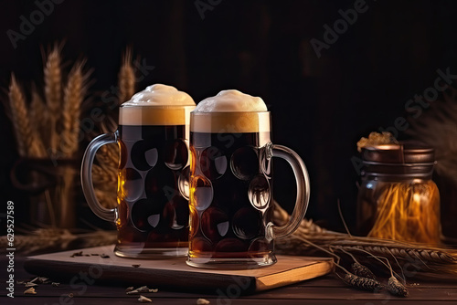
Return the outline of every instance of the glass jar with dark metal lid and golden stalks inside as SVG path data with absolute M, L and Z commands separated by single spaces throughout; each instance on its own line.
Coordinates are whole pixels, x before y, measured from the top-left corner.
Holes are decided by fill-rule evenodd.
M 359 234 L 440 244 L 440 193 L 431 180 L 433 149 L 403 142 L 363 148 L 362 156 Z

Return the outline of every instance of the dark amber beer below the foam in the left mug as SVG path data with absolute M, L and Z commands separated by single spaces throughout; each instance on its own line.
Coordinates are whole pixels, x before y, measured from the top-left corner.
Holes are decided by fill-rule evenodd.
M 187 247 L 185 126 L 119 126 L 118 244 L 125 256 Z M 187 173 L 187 175 L 186 175 Z M 187 190 L 188 191 L 188 190 Z

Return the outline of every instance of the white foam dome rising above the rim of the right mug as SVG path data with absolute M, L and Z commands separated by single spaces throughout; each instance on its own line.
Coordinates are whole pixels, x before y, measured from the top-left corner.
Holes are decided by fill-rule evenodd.
M 259 112 L 267 111 L 267 105 L 259 97 L 253 97 L 236 89 L 220 91 L 216 96 L 198 103 L 194 112 Z

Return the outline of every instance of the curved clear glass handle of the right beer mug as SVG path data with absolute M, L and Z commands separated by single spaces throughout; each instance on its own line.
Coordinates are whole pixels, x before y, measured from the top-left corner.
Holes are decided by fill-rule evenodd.
M 272 223 L 267 225 L 266 238 L 271 240 L 287 237 L 300 226 L 310 201 L 310 178 L 302 158 L 288 147 L 270 142 L 266 145 L 266 157 L 268 160 L 271 157 L 279 157 L 287 161 L 292 166 L 297 182 L 297 199 L 289 222 L 284 226 L 275 226 Z

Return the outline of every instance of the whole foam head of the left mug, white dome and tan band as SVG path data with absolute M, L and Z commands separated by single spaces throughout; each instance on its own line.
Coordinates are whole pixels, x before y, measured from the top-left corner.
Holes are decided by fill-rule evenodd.
M 154 84 L 122 103 L 121 125 L 186 125 L 194 100 L 172 86 Z

